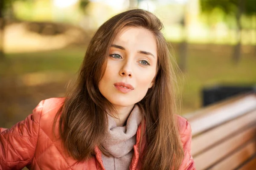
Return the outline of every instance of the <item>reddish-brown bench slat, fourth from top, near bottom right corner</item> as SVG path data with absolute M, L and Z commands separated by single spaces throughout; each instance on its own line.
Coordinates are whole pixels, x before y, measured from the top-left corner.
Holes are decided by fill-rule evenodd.
M 256 152 L 256 140 L 249 142 L 247 145 L 233 153 L 227 159 L 224 159 L 220 163 L 214 165 L 209 170 L 233 170 L 248 159 Z M 254 167 L 256 169 L 256 167 Z M 255 170 L 254 169 L 254 170 Z M 246 169 L 250 170 L 250 169 Z

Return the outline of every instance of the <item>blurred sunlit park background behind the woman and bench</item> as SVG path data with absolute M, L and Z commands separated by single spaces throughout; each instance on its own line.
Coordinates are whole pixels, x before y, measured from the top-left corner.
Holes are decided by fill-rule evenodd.
M 64 96 L 96 29 L 132 8 L 163 21 L 182 114 L 203 106 L 203 88 L 256 85 L 256 0 L 0 0 L 0 127 Z

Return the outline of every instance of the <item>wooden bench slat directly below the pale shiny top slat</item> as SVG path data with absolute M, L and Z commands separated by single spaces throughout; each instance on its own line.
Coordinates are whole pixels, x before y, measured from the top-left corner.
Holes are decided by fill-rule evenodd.
M 216 142 L 224 139 L 226 136 L 235 133 L 236 131 L 246 127 L 252 122 L 256 122 L 256 111 L 247 113 L 235 120 L 220 125 L 212 130 L 207 131 L 192 139 L 192 156 L 195 156 L 207 147 L 215 144 Z

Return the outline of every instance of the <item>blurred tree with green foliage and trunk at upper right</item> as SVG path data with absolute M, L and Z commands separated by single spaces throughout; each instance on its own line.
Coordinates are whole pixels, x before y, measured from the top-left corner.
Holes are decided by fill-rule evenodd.
M 216 8 L 224 14 L 236 18 L 236 45 L 233 51 L 233 61 L 239 62 L 241 57 L 241 16 L 253 16 L 256 14 L 256 0 L 200 0 L 202 12 L 209 14 Z

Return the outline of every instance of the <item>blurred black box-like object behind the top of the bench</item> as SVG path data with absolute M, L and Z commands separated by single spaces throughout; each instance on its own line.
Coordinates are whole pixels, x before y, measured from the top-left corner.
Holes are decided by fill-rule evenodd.
M 244 94 L 248 92 L 256 93 L 256 85 L 251 86 L 229 86 L 229 85 L 217 85 L 213 87 L 203 88 L 203 107 L 210 105 L 215 102 L 227 99 L 231 96 L 238 94 Z

